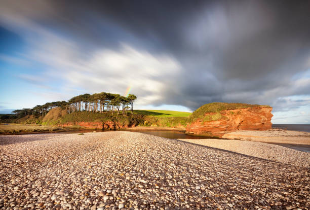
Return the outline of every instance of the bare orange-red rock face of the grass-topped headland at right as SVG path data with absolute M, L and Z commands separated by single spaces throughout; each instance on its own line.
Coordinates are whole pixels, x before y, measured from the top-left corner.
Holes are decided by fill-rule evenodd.
M 270 107 L 249 107 L 242 109 L 223 110 L 219 113 L 206 113 L 205 117 L 211 119 L 204 121 L 196 119 L 186 127 L 186 133 L 222 137 L 225 133 L 236 130 L 267 130 L 272 128 L 273 114 Z M 220 119 L 214 119 L 215 115 Z

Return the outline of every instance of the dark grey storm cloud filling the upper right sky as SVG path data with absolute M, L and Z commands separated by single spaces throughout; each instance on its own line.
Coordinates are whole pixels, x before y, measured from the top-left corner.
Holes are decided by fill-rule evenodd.
M 1 4 L 8 16 L 15 12 L 72 40 L 84 52 L 80 57 L 126 43 L 155 57 L 175 59 L 177 74 L 146 76 L 164 82 L 161 97 L 152 100 L 156 105 L 181 104 L 195 110 L 207 102 L 238 101 L 281 110 L 281 104 L 290 106 L 284 97 L 310 94 L 309 78 L 294 77 L 310 67 L 309 1 Z M 113 71 L 106 75 L 112 77 Z M 145 96 L 152 90 L 136 93 Z M 291 104 L 295 108 L 304 101 Z

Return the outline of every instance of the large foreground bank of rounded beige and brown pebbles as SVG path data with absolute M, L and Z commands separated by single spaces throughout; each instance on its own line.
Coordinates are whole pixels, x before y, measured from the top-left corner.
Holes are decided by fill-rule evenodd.
M 4 209 L 310 205 L 309 168 L 136 132 L 0 136 L 0 163 Z

